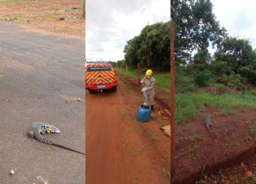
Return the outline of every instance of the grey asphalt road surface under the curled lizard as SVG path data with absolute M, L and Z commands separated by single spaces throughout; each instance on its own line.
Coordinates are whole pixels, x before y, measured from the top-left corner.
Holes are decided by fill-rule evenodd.
M 84 40 L 0 22 L 1 184 L 85 183 L 85 155 L 27 138 L 47 122 L 61 133 L 44 137 L 85 153 L 84 63 Z

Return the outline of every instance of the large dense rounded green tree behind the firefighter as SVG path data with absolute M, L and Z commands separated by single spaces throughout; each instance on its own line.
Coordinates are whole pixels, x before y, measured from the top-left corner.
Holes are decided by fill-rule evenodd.
M 170 21 L 146 25 L 140 35 L 127 41 L 124 47 L 127 64 L 170 68 L 170 30 Z

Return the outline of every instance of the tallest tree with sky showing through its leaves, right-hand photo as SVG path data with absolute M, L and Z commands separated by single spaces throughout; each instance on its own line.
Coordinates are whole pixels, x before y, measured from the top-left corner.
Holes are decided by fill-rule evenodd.
M 210 0 L 171 0 L 171 20 L 174 22 L 174 58 L 184 64 L 193 50 L 198 52 L 220 44 L 227 30 L 220 28 Z

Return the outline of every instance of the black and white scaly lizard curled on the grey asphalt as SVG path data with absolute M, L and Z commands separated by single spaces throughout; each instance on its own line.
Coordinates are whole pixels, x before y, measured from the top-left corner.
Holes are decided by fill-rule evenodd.
M 31 137 L 31 138 L 36 137 L 36 139 L 38 139 L 38 141 L 40 141 L 40 142 L 44 142 L 46 144 L 58 146 L 58 147 L 61 147 L 61 148 L 64 148 L 64 149 L 68 149 L 70 151 L 75 151 L 74 149 L 70 149 L 70 148 L 62 146 L 60 144 L 55 144 L 50 139 L 46 139 L 45 137 L 41 136 L 41 134 L 46 134 L 47 131 L 50 131 L 52 133 L 60 134 L 60 130 L 58 130 L 57 127 L 53 127 L 53 125 L 50 125 L 50 124 L 45 123 L 45 122 L 36 122 L 33 125 L 33 131 L 28 132 L 28 137 Z M 80 153 L 80 154 L 84 154 L 80 151 L 75 151 L 75 152 Z

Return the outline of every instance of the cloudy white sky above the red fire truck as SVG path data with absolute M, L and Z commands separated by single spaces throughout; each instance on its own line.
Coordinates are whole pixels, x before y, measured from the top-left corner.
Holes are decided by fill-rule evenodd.
M 148 23 L 170 21 L 170 7 L 169 0 L 87 0 L 86 61 L 124 59 L 127 41 Z

